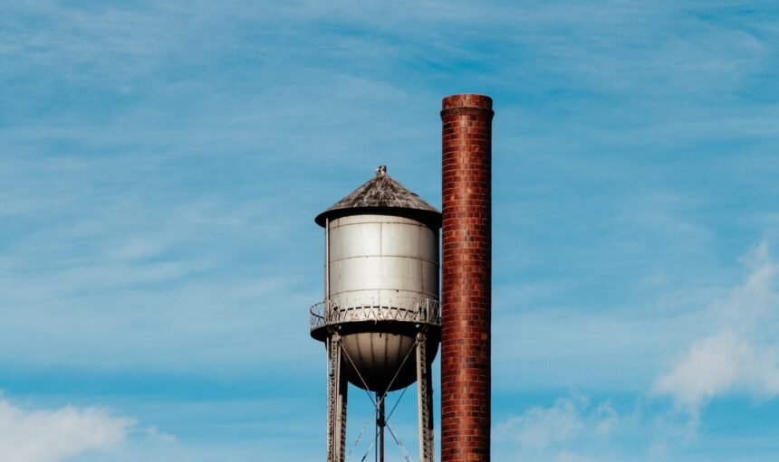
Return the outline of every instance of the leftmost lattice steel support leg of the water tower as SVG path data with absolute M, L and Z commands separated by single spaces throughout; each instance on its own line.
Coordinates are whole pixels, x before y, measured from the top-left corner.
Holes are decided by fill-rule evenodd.
M 341 368 L 341 335 L 333 334 L 327 344 L 327 461 L 346 459 L 346 398 L 348 384 Z

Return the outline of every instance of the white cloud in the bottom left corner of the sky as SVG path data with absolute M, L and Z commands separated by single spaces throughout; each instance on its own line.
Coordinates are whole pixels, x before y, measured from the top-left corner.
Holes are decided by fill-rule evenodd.
M 4 462 L 59 462 L 114 448 L 134 425 L 101 408 L 22 410 L 0 400 L 0 454 Z

